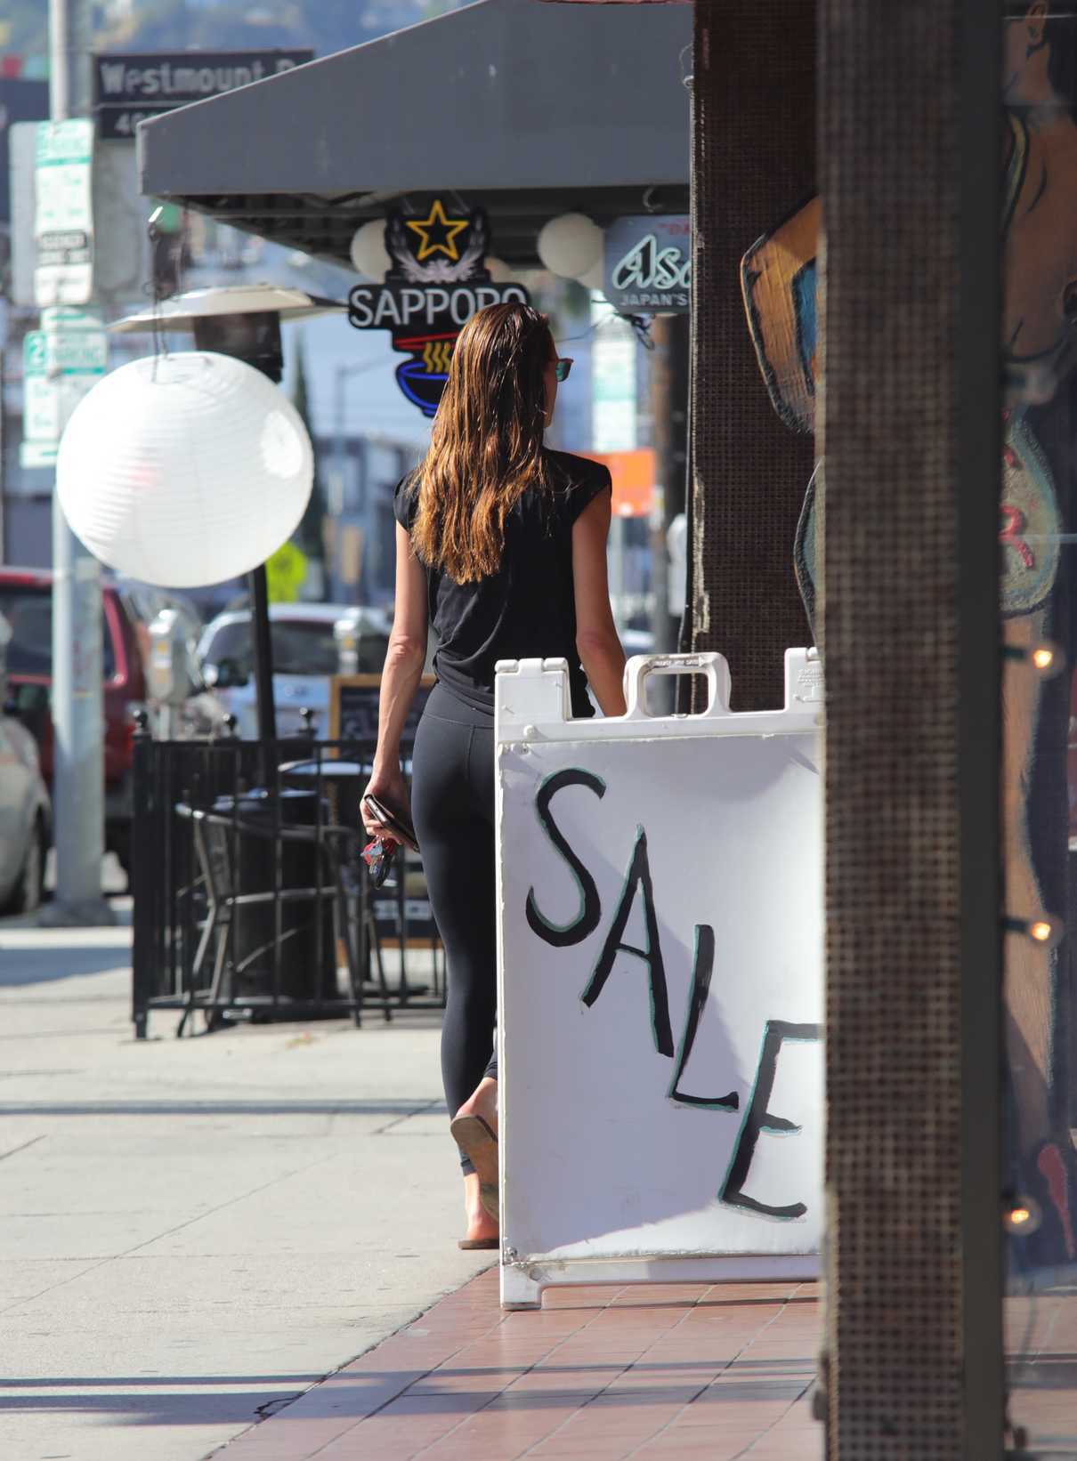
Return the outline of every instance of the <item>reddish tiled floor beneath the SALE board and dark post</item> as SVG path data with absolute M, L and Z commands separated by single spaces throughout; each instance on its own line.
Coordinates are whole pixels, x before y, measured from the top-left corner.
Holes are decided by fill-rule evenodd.
M 1007 1302 L 1011 1414 L 1077 1461 L 1077 1290 Z M 227 1461 L 820 1461 L 815 1284 L 549 1289 L 497 1268 L 227 1448 Z

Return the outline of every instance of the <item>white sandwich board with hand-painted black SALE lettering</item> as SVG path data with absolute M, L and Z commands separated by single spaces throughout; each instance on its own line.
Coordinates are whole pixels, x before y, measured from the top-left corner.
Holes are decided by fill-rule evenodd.
M 649 674 L 706 674 L 647 716 Z M 551 1283 L 815 1277 L 823 1236 L 821 668 L 731 713 L 718 655 L 498 665 L 501 1300 Z

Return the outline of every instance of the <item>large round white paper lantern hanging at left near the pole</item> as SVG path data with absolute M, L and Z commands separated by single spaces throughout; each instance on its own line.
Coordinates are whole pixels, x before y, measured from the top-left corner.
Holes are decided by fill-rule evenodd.
M 186 351 L 132 361 L 83 396 L 56 479 L 96 558 L 193 589 L 256 568 L 291 538 L 314 459 L 298 412 L 260 371 Z

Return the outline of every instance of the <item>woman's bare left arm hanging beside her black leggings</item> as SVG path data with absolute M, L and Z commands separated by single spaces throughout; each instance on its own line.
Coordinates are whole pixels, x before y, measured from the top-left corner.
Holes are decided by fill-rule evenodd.
M 377 751 L 368 792 L 396 805 L 406 804 L 400 771 L 403 733 L 427 659 L 427 576 L 415 557 L 406 529 L 396 524 L 396 603 L 393 630 L 381 672 Z

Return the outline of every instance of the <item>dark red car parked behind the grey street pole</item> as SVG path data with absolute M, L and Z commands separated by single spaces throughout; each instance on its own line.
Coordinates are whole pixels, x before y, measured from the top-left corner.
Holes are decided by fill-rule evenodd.
M 0 614 L 12 627 L 7 684 L 12 709 L 34 733 L 41 768 L 53 783 L 53 574 L 39 568 L 0 568 Z M 130 863 L 132 716 L 146 698 L 145 630 L 127 612 L 123 595 L 102 586 L 102 657 L 105 710 L 105 846 L 124 869 Z

